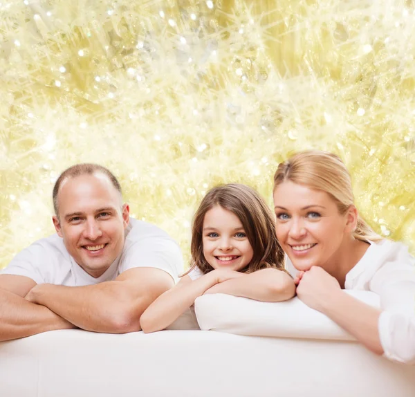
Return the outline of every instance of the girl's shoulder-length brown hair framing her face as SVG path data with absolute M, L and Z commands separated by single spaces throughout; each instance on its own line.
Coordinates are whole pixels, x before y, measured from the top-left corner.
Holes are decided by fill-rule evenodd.
M 242 273 L 252 273 L 263 268 L 286 271 L 284 251 L 275 234 L 275 220 L 270 208 L 251 187 L 231 183 L 209 190 L 194 214 L 190 248 L 192 264 L 183 275 L 187 275 L 196 266 L 203 274 L 213 270 L 203 255 L 203 221 L 206 212 L 216 206 L 233 212 L 238 217 L 254 252 L 250 263 L 240 270 Z

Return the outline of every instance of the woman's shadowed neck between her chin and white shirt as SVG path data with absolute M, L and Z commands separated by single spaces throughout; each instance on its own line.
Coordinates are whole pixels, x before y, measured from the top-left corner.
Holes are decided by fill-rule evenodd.
M 370 244 L 365 241 L 348 236 L 324 266 L 324 270 L 335 277 L 340 286 L 344 288 L 347 273 L 358 264 L 369 246 Z

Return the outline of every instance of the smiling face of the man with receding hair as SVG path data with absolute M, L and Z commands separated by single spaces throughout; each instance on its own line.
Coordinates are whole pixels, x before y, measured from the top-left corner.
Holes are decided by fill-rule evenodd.
M 120 255 L 129 207 L 109 178 L 97 172 L 63 181 L 57 194 L 57 234 L 76 263 L 92 277 L 100 277 Z

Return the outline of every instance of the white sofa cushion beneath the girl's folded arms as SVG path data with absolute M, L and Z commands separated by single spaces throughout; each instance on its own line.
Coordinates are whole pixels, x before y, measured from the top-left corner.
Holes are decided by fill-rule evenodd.
M 379 307 L 379 297 L 369 291 L 347 293 L 371 306 Z M 329 317 L 309 308 L 298 297 L 286 302 L 258 302 L 225 294 L 208 294 L 194 302 L 203 331 L 238 335 L 277 336 L 326 340 L 355 340 Z

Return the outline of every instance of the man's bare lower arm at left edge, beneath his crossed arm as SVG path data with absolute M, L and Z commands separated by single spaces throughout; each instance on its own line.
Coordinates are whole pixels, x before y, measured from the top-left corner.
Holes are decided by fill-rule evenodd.
M 0 289 L 0 341 L 71 328 L 75 326 L 50 309 Z

